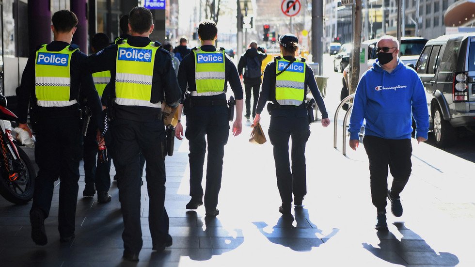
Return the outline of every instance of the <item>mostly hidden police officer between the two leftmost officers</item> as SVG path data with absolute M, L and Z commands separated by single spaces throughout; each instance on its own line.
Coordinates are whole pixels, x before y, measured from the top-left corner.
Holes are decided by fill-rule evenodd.
M 107 34 L 99 32 L 94 34 L 91 39 L 91 50 L 93 53 L 97 53 L 105 47 L 109 46 L 110 39 Z M 111 81 L 111 71 L 100 71 L 93 73 L 93 80 L 95 90 L 102 96 L 106 85 Z M 85 101 L 85 105 L 88 106 L 88 101 Z M 87 118 L 85 118 L 87 120 Z M 83 124 L 84 125 L 84 124 Z M 97 191 L 97 203 L 107 203 L 111 201 L 111 196 L 108 191 L 111 188 L 111 176 L 109 172 L 111 170 L 111 160 L 101 162 L 97 156 L 97 140 L 96 129 L 94 127 L 87 126 L 86 136 L 84 137 L 84 182 L 86 186 L 82 191 L 83 197 L 93 197 L 95 191 Z M 109 154 L 110 150 L 106 150 Z M 108 157 L 110 158 L 110 156 Z M 97 162 L 97 165 L 96 165 Z M 97 166 L 97 167 L 96 167 Z

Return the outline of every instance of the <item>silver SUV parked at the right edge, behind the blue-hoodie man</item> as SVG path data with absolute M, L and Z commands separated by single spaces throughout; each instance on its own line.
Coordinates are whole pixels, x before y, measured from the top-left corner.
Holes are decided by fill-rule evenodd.
M 426 90 L 435 144 L 449 146 L 475 126 L 475 33 L 429 40 L 415 64 Z

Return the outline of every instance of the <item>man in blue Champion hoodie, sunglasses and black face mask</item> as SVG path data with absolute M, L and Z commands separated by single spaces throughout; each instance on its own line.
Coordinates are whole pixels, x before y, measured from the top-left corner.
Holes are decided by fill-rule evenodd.
M 364 123 L 364 149 L 369 159 L 371 199 L 377 209 L 377 230 L 388 230 L 387 200 L 394 216 L 402 216 L 399 194 L 411 175 L 412 117 L 417 142 L 427 140 L 428 109 L 424 86 L 417 73 L 398 58 L 399 42 L 383 36 L 377 44 L 378 59 L 361 77 L 354 98 L 348 131 L 356 150 Z M 388 165 L 393 183 L 388 189 Z

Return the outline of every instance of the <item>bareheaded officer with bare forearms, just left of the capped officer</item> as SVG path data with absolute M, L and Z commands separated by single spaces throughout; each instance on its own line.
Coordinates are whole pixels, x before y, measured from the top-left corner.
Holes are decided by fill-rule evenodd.
M 206 167 L 206 216 L 217 216 L 218 193 L 221 188 L 222 159 L 224 145 L 229 136 L 229 118 L 226 89 L 231 85 L 236 98 L 236 120 L 233 134 L 242 130 L 242 87 L 238 70 L 224 53 L 224 48 L 214 46 L 218 38 L 218 27 L 211 20 L 204 20 L 198 27 L 201 47 L 193 48 L 183 58 L 178 70 L 178 82 L 183 91 L 182 103 L 178 108 L 178 124 L 175 136 L 182 140 L 181 110 L 184 106 L 187 116 L 185 136 L 190 143 L 190 203 L 187 209 L 197 209 L 203 204 L 203 165 L 208 141 L 208 163 Z M 189 92 L 185 97 L 186 91 Z

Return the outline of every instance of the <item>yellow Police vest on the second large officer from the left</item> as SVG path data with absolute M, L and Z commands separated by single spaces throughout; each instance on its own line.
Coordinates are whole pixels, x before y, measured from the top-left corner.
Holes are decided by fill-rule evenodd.
M 132 47 L 124 42 L 117 48 L 115 103 L 160 108 L 161 103 L 150 102 L 155 54 L 159 47 L 154 42 L 146 47 Z

